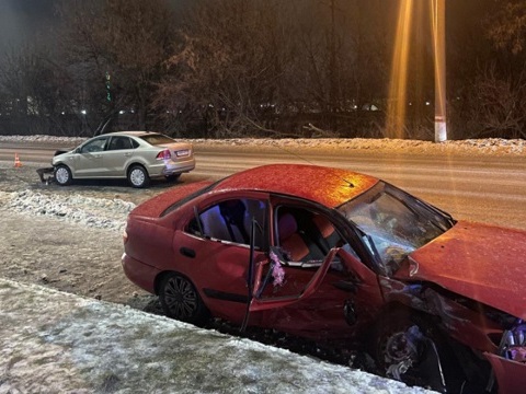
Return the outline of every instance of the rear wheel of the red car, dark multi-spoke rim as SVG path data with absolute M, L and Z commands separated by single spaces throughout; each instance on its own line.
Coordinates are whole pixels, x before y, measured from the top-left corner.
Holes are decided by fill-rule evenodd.
M 159 300 L 169 317 L 195 325 L 203 325 L 209 318 L 209 312 L 199 293 L 182 275 L 171 273 L 162 279 Z

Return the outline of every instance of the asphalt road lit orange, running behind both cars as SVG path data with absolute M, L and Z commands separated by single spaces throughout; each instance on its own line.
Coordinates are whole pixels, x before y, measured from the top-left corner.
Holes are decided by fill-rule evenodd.
M 57 148 L 42 143 L 0 143 L 0 160 L 47 166 Z M 222 177 L 255 165 L 312 163 L 384 178 L 450 212 L 456 219 L 526 230 L 526 157 L 386 154 L 371 151 L 287 151 L 196 146 L 196 170 L 184 182 Z M 291 176 L 294 176 L 291 174 Z M 316 187 L 316 185 L 313 185 Z

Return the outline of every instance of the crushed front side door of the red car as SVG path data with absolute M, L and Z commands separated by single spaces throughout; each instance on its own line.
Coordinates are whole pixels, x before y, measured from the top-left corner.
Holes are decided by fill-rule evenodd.
M 382 304 L 376 274 L 325 211 L 274 202 L 271 262 L 256 269 L 251 313 L 301 336 L 353 336 Z

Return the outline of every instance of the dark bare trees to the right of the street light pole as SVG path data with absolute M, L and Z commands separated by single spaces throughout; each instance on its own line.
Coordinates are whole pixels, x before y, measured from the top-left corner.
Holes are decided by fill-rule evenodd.
M 453 35 L 458 40 L 454 42 L 458 51 L 451 57 L 455 68 L 449 84 L 450 119 L 456 138 L 524 138 L 524 1 L 487 0 L 481 7 L 464 7 L 456 10 L 464 11 L 466 18 Z

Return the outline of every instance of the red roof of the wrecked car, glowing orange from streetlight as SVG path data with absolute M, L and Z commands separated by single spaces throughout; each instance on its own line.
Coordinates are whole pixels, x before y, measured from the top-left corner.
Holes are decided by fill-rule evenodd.
M 311 164 L 268 164 L 236 173 L 214 190 L 261 190 L 308 199 L 329 208 L 363 194 L 378 178 L 343 169 Z

